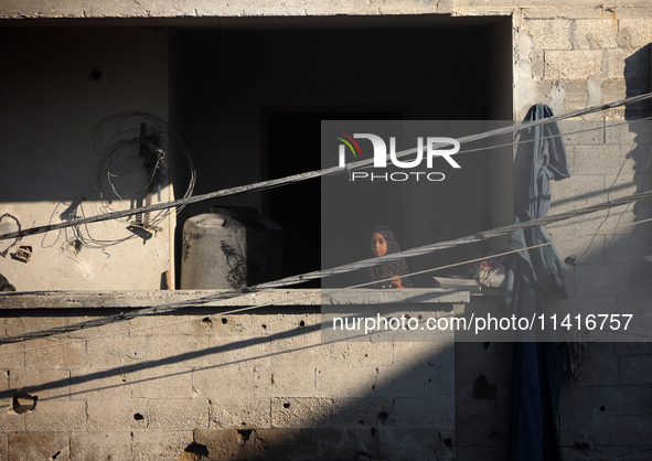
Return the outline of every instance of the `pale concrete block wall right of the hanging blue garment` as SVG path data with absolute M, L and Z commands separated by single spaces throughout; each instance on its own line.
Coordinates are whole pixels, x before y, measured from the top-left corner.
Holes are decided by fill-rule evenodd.
M 620 13 L 523 14 L 516 41 L 519 56 L 531 56 L 532 94 L 562 112 L 649 93 L 652 24 L 644 10 Z M 519 104 L 515 109 L 523 110 Z M 573 176 L 554 184 L 551 213 L 650 190 L 652 127 L 637 121 L 643 117 L 650 117 L 649 101 L 562 125 Z M 649 223 L 617 228 L 650 218 L 651 211 L 644 201 L 549 227 L 556 240 L 565 240 L 557 245 L 571 294 L 565 305 L 577 312 L 632 314 L 652 305 L 652 267 L 645 260 L 652 228 Z M 568 240 L 598 229 L 603 233 Z M 640 329 L 649 339 L 649 326 Z M 562 393 L 566 458 L 649 457 L 644 426 L 650 417 L 642 409 L 652 383 L 650 343 L 590 343 L 580 356 L 577 380 L 565 382 Z

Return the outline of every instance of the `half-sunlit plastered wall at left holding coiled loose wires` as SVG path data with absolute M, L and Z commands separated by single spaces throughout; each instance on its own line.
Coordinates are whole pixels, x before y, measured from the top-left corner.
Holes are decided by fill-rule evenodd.
M 9 45 L 0 71 L 1 232 L 143 204 L 150 178 L 138 146 L 116 150 L 107 167 L 96 129 L 128 110 L 167 118 L 167 31 L 1 29 L 0 35 Z M 138 137 L 140 121 L 105 124 L 101 142 L 118 146 L 118 136 Z M 168 183 L 163 165 L 161 201 L 171 196 Z M 2 242 L 0 274 L 21 291 L 159 289 L 161 274 L 171 269 L 173 221 L 163 218 L 163 230 L 145 242 L 127 229 L 132 219 Z M 18 245 L 32 247 L 29 262 L 12 258 Z

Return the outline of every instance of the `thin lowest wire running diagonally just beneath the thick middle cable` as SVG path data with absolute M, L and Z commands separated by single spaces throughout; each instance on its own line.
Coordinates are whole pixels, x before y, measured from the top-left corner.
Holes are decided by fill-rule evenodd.
M 626 228 L 626 227 L 630 227 L 630 226 L 635 226 L 635 225 L 644 224 L 644 223 L 649 223 L 649 222 L 652 222 L 652 217 L 646 218 L 646 219 L 641 219 L 641 221 L 632 222 L 632 223 L 628 223 L 628 224 L 622 224 L 622 225 L 613 226 L 613 227 L 610 227 L 610 228 L 606 228 L 606 229 L 602 230 L 602 233 L 611 233 L 611 232 L 614 232 L 614 230 L 618 230 L 618 229 L 621 229 L 621 228 Z M 556 245 L 556 244 L 562 244 L 562 243 L 566 243 L 566 242 L 571 242 L 571 240 L 576 240 L 576 239 L 579 239 L 579 238 L 590 237 L 590 236 L 592 236 L 595 234 L 598 234 L 598 233 L 600 233 L 600 230 L 592 232 L 592 233 L 586 233 L 586 234 L 581 234 L 581 235 L 574 235 L 571 237 L 567 237 L 567 238 L 564 238 L 564 239 L 560 239 L 560 240 L 546 242 L 546 243 L 543 243 L 543 244 L 532 245 L 532 246 L 528 246 L 528 247 L 525 247 L 525 248 L 512 249 L 512 250 L 499 253 L 499 254 L 491 255 L 491 256 L 484 256 L 484 257 L 480 257 L 480 258 L 468 259 L 468 260 L 461 261 L 461 262 L 452 262 L 452 264 L 448 264 L 448 265 L 445 265 L 445 266 L 438 266 L 438 267 L 430 268 L 430 269 L 425 269 L 425 270 L 420 270 L 420 271 L 416 271 L 416 272 L 409 272 L 409 274 L 406 275 L 406 277 L 416 276 L 416 275 L 420 275 L 420 274 L 427 274 L 427 272 L 434 272 L 434 271 L 437 271 L 437 270 L 442 270 L 442 269 L 448 269 L 448 268 L 452 268 L 452 267 L 464 266 L 464 265 L 469 265 L 469 264 L 473 264 L 473 262 L 479 262 L 479 261 L 485 260 L 488 257 L 495 258 L 495 257 L 501 257 L 501 256 L 509 256 L 509 255 L 513 255 L 513 254 L 521 253 L 521 251 L 527 251 L 527 250 L 531 250 L 531 249 L 535 249 L 535 248 L 539 248 L 539 247 L 545 247 L 545 246 L 548 246 L 548 245 Z M 323 297 L 328 297 L 328 296 L 333 294 L 333 293 L 339 293 L 339 292 L 342 292 L 342 291 L 353 290 L 353 289 L 356 289 L 356 288 L 362 288 L 362 287 L 365 287 L 365 286 L 377 283 L 378 281 L 389 281 L 389 280 L 391 279 L 375 280 L 375 281 L 372 281 L 372 282 L 359 283 L 359 285 L 349 286 L 349 287 L 327 289 L 325 292 L 323 292 L 323 290 L 322 290 L 321 297 L 323 298 Z M 259 291 L 259 293 L 264 293 L 264 292 L 265 292 L 265 290 Z M 247 311 L 252 311 L 252 310 L 268 308 L 268 307 L 272 307 L 272 305 L 279 305 L 279 304 L 284 304 L 284 303 L 285 304 L 288 304 L 288 303 L 291 303 L 291 302 L 299 301 L 301 299 L 309 298 L 311 296 L 313 296 L 313 294 L 300 294 L 300 296 L 293 297 L 292 299 L 285 300 L 285 301 L 281 301 L 281 302 L 272 301 L 272 302 L 268 302 L 268 303 L 264 303 L 264 304 L 248 305 L 248 307 L 232 309 L 232 310 L 227 310 L 227 311 L 222 311 L 222 312 L 218 312 L 218 313 L 215 313 L 215 314 L 210 314 L 210 315 L 206 315 L 206 317 L 207 318 L 212 318 L 212 317 L 217 317 L 217 315 L 220 315 L 220 317 L 222 317 L 222 315 L 229 315 L 229 314 L 243 313 L 243 312 L 247 312 Z M 218 307 L 216 307 L 216 308 L 218 308 Z M 185 309 L 185 308 L 179 308 L 179 309 Z M 21 351 L 13 351 L 13 352 L 8 352 L 8 353 L 0 353 L 0 356 L 13 355 L 13 354 L 26 353 L 26 352 L 34 352 L 34 351 L 40 351 L 40 350 L 44 350 L 44 349 L 51 349 L 51 347 L 57 347 L 57 346 L 74 344 L 74 343 L 78 343 L 78 342 L 83 342 L 83 341 L 101 340 L 101 339 L 106 339 L 106 337 L 113 337 L 113 336 L 118 336 L 118 335 L 122 335 L 122 334 L 131 334 L 131 333 L 145 331 L 145 330 L 153 330 L 153 329 L 159 329 L 159 328 L 172 326 L 172 325 L 177 325 L 177 324 L 181 324 L 181 323 L 188 323 L 188 322 L 192 322 L 192 320 L 184 319 L 184 320 L 178 320 L 178 321 L 174 321 L 174 322 L 158 323 L 156 325 L 141 326 L 141 328 L 137 328 L 137 329 L 129 329 L 129 330 L 126 330 L 126 331 L 119 331 L 119 332 L 113 332 L 113 333 L 107 333 L 107 334 L 94 335 L 94 336 L 89 336 L 89 337 L 79 337 L 79 339 L 72 340 L 72 341 L 65 341 L 65 342 L 62 342 L 62 343 L 53 343 L 53 344 L 47 344 L 47 345 L 42 345 L 42 346 L 36 346 L 36 347 L 29 347 L 29 349 L 24 349 L 24 350 L 21 350 Z M 97 325 L 97 326 L 99 326 L 99 325 Z M 55 329 L 53 329 L 53 330 L 55 330 Z M 53 330 L 50 330 L 50 331 L 53 331 Z M 39 333 L 41 333 L 41 332 L 39 332 Z M 51 335 L 61 334 L 61 333 L 65 333 L 65 332 L 57 332 L 57 333 L 53 333 Z M 8 339 L 0 339 L 0 345 L 8 344 L 8 343 L 15 343 L 15 342 L 25 342 L 25 341 L 29 341 L 29 340 L 33 339 L 33 337 L 25 337 L 28 335 L 12 336 L 11 337 L 11 340 L 13 340 L 13 339 L 21 339 L 21 341 L 3 341 L 3 340 L 8 340 Z M 40 336 L 40 337 L 42 337 L 42 336 Z

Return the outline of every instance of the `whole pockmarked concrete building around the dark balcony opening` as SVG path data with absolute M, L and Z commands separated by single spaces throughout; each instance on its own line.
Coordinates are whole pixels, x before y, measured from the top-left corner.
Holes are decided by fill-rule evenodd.
M 511 122 L 535 104 L 560 115 L 648 94 L 651 17 L 646 0 L 1 2 L 0 234 L 319 170 L 324 119 Z M 559 122 L 571 176 L 551 214 L 650 189 L 650 112 L 646 99 Z M 507 144 L 438 184 L 398 225 L 402 246 L 512 224 Z M 327 342 L 319 285 L 200 303 L 213 291 L 180 282 L 183 225 L 210 205 L 282 226 L 279 276 L 319 270 L 319 194 L 302 182 L 0 240 L 17 290 L 0 294 L 0 459 L 509 459 L 511 343 Z M 364 240 L 377 211 L 351 233 Z M 562 307 L 643 319 L 637 341 L 573 349 L 564 459 L 652 458 L 652 227 L 634 225 L 651 217 L 638 201 L 547 227 Z M 413 318 L 504 304 L 499 290 L 398 291 L 364 302 Z

